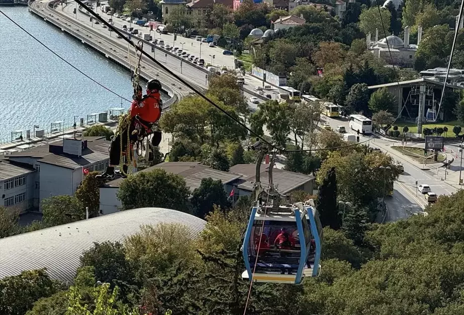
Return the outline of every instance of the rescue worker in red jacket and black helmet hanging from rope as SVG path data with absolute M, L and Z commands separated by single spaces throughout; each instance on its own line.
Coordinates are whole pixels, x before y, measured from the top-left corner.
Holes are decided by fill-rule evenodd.
M 152 132 L 151 129 L 153 124 L 161 117 L 162 101 L 159 94 L 160 90 L 161 83 L 154 79 L 147 82 L 146 95 L 142 96 L 142 87 L 140 85 L 134 89 L 134 95 L 132 97 L 134 101 L 130 109 L 130 122 L 125 126 L 118 126 L 116 135 L 110 144 L 110 164 L 103 174 L 96 176 L 98 179 L 111 180 L 114 179 L 115 175 L 127 174 L 128 140 L 133 144 L 138 141 L 140 137 L 153 134 L 151 144 L 153 146 L 159 145 L 161 142 L 161 132 Z M 129 131 L 127 130 L 128 128 Z M 129 152 L 129 154 L 131 154 L 131 152 Z M 115 167 L 121 162 L 121 155 L 125 156 L 123 170 L 115 170 Z

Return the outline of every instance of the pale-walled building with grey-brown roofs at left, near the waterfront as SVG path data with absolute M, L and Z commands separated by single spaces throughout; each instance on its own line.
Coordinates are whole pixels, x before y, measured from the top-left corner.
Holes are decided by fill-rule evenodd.
M 2 205 L 7 209 L 39 209 L 43 198 L 73 195 L 86 171 L 102 171 L 109 163 L 104 137 L 64 138 L 6 155 L 0 164 Z

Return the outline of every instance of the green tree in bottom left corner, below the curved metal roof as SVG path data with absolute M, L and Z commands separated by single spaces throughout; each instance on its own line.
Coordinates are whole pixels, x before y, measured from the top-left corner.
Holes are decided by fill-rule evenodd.
M 62 288 L 50 279 L 45 269 L 27 270 L 17 276 L 0 280 L 0 313 L 23 315 L 41 297 L 47 297 Z

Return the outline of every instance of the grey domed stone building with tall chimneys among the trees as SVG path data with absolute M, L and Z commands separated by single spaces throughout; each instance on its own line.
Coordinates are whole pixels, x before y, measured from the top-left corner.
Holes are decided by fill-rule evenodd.
M 394 34 L 378 41 L 379 30 L 376 30 L 374 43 L 371 41 L 371 34 L 367 34 L 367 48 L 372 51 L 376 57 L 384 59 L 388 64 L 392 64 L 393 58 L 394 65 L 412 68 L 414 66 L 417 47 L 422 39 L 422 27 L 419 27 L 418 31 L 418 44 L 414 45 L 409 43 L 409 26 L 404 29 L 404 41 Z

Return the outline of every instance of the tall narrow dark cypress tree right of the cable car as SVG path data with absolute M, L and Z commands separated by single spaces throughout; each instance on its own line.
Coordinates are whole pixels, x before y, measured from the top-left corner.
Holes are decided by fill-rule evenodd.
M 335 167 L 332 167 L 325 176 L 317 194 L 316 208 L 319 211 L 323 227 L 334 230 L 340 229 L 340 215 L 337 207 L 337 178 Z

